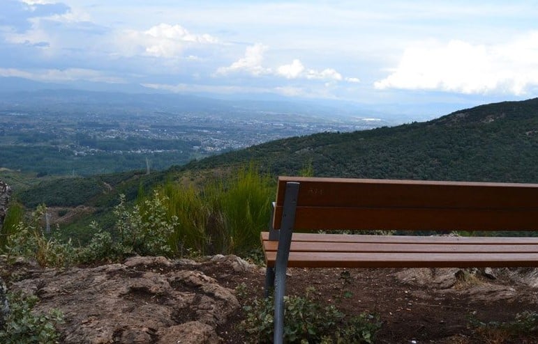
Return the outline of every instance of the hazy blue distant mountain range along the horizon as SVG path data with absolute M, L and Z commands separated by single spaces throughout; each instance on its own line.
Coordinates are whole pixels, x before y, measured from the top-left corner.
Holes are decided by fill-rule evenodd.
M 144 86 L 78 82 L 73 86 L 31 81 L 17 77 L 0 77 L 0 104 L 19 100 L 21 106 L 41 105 L 73 111 L 98 109 L 98 105 L 117 105 L 122 109 L 165 109 L 165 111 L 262 111 L 285 114 L 339 118 L 380 118 L 390 125 L 413 120 L 428 120 L 454 110 L 454 102 L 416 102 L 359 104 L 357 102 L 285 97 L 274 93 L 167 93 Z M 2 102 L 3 100 L 3 102 Z M 475 100 L 478 104 L 481 100 Z M 472 103 L 462 103 L 470 106 Z M 456 108 L 457 109 L 457 108 Z M 121 113 L 121 112 L 120 112 Z

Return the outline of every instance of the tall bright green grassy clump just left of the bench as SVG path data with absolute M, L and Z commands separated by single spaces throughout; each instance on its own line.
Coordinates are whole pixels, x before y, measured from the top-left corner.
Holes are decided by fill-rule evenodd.
M 177 219 L 167 237 L 170 249 L 177 256 L 251 251 L 267 229 L 275 189 L 253 164 L 199 187 L 167 182 L 157 192 L 167 218 Z M 147 200 L 139 197 L 137 204 L 144 212 Z

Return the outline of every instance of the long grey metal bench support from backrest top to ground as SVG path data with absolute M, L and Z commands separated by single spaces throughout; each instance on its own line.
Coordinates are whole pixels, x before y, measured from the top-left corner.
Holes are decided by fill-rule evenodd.
M 287 260 L 290 258 L 290 246 L 292 243 L 293 226 L 295 222 L 295 208 L 297 208 L 297 195 L 299 194 L 298 182 L 287 182 L 284 196 L 284 208 L 278 250 L 275 262 L 275 313 L 274 313 L 274 341 L 282 344 L 284 341 L 284 295 L 286 292 L 286 269 Z

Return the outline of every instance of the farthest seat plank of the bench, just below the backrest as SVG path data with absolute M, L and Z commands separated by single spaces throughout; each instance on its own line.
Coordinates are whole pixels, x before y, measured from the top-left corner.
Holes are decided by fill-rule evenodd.
M 269 232 L 260 233 L 262 241 L 269 240 Z M 386 242 L 422 244 L 538 244 L 538 237 L 449 237 L 417 235 L 348 235 L 293 233 L 294 242 Z

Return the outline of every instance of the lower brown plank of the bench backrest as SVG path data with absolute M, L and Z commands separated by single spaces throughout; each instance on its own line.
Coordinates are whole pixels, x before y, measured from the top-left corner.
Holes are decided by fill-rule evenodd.
M 274 228 L 280 228 L 277 207 Z M 298 206 L 294 230 L 537 230 L 537 209 L 335 208 Z

